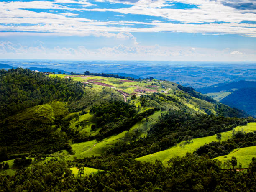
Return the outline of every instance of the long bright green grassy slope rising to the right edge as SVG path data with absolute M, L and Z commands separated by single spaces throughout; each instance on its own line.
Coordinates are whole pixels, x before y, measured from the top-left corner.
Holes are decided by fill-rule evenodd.
M 237 126 L 234 128 L 235 131 L 241 131 L 244 130 L 246 132 L 250 131 L 256 131 L 256 123 L 248 123 L 246 126 Z M 160 151 L 154 154 L 149 154 L 140 158 L 137 158 L 139 161 L 147 161 L 154 163 L 157 160 L 162 161 L 164 164 L 169 161 L 174 156 L 184 156 L 186 153 L 192 153 L 200 146 L 210 143 L 212 141 L 223 141 L 227 140 L 228 138 L 232 137 L 232 130 L 226 131 L 221 133 L 222 138 L 221 140 L 217 140 L 216 135 L 208 136 L 208 137 L 202 137 L 202 138 L 195 138 L 193 139 L 193 143 L 186 143 L 185 141 L 182 141 L 181 143 L 178 143 L 177 146 L 173 146 L 169 149 L 166 149 L 164 151 Z M 181 146 L 181 144 L 184 144 L 184 147 Z

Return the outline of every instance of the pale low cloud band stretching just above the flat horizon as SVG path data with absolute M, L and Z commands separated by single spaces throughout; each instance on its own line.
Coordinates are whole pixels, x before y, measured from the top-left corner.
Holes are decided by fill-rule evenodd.
M 194 49 L 193 49 L 194 48 Z M 243 54 L 241 54 L 243 53 Z M 13 44 L 10 41 L 0 42 L 0 57 L 13 59 L 109 59 L 109 60 L 168 60 L 168 61 L 245 61 L 256 60 L 256 51 L 239 49 L 231 51 L 203 47 L 182 46 L 125 46 L 120 44 L 100 49 L 87 49 L 55 46 L 46 48 L 40 42 L 36 46 Z

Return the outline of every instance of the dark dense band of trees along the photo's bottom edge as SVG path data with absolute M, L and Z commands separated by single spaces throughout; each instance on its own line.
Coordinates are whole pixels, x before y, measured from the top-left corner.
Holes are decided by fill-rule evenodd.
M 75 164 L 84 166 L 79 160 Z M 108 164 L 108 171 L 90 176 L 79 172 L 74 177 L 69 164 L 51 159 L 12 177 L 0 176 L 0 191 L 256 191 L 256 158 L 246 172 L 221 170 L 220 161 L 193 154 L 172 158 L 168 167 L 160 161 L 142 163 L 126 156 Z

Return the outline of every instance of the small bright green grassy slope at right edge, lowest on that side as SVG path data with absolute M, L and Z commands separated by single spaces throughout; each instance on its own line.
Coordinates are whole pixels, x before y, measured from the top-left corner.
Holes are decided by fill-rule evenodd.
M 253 157 L 256 158 L 256 146 L 236 148 L 232 152 L 230 152 L 228 155 L 219 156 L 219 157 L 216 157 L 215 159 L 220 160 L 222 162 L 222 168 L 225 168 L 223 163 L 228 159 L 231 160 L 232 156 L 236 157 L 237 164 L 241 163 L 242 168 L 246 168 L 251 163 L 251 159 Z

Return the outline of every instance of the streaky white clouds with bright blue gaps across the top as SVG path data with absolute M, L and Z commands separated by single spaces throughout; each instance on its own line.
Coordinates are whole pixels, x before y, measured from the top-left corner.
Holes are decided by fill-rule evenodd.
M 0 31 L 62 36 L 113 36 L 122 31 L 255 37 L 255 13 L 254 0 L 1 1 Z

